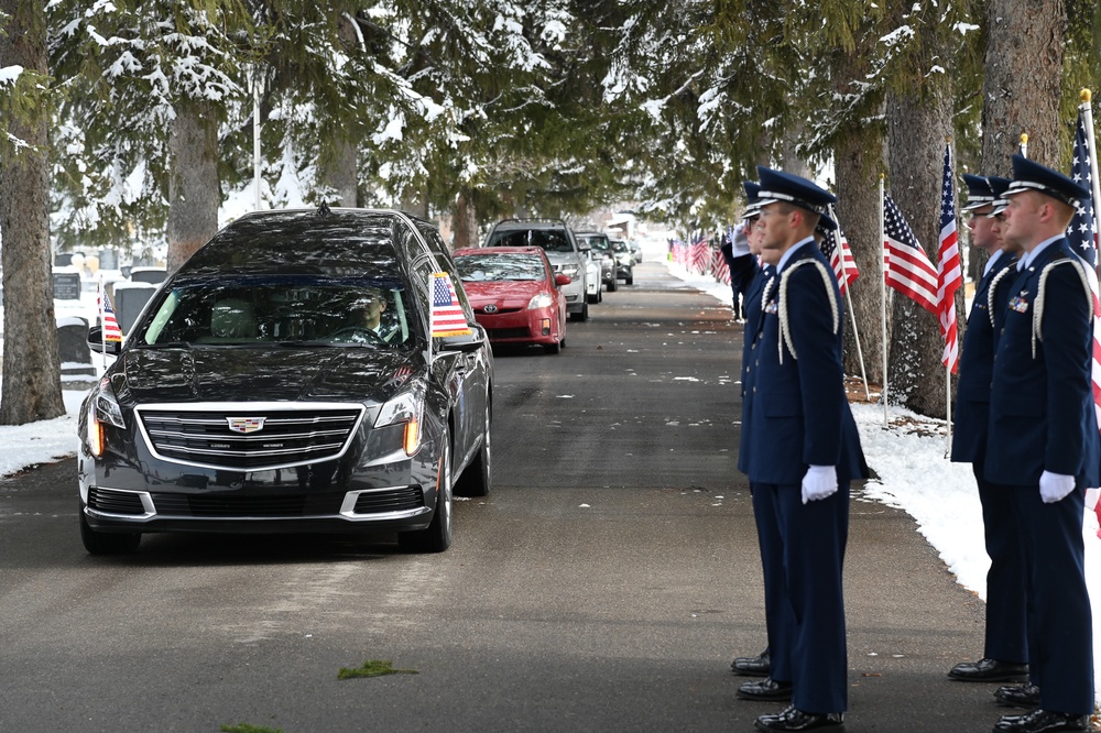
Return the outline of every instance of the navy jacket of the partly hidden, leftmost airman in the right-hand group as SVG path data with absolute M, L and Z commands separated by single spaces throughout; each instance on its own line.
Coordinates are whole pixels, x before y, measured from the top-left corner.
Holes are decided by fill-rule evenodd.
M 971 313 L 963 335 L 960 352 L 960 379 L 956 387 L 956 427 L 952 433 L 952 460 L 964 463 L 980 462 L 986 450 L 986 422 L 990 417 L 990 382 L 994 374 L 993 311 L 1004 315 L 1010 285 L 1014 274 L 999 273 L 1016 264 L 1016 258 L 1003 254 L 994 266 L 982 276 L 974 291 Z M 996 292 L 991 298 L 990 287 L 998 280 Z

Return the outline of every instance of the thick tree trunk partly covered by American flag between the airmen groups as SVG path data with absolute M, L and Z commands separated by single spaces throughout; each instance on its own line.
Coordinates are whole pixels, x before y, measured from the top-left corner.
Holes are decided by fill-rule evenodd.
M 951 98 L 887 98 L 890 192 L 926 254 L 937 264 L 945 139 L 952 129 Z M 957 320 L 959 316 L 957 314 Z M 945 341 L 937 318 L 914 300 L 894 296 L 887 400 L 920 415 L 944 418 Z

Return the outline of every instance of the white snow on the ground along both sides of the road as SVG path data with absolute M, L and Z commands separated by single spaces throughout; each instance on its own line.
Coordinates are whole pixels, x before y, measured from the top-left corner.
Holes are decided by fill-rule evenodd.
M 664 261 L 664 252 L 656 245 L 647 248 L 645 256 L 646 262 Z M 672 264 L 669 272 L 724 304 L 732 302 L 729 285 L 687 273 Z M 4 447 L 0 451 L 0 477 L 75 456 L 79 445 L 76 414 L 85 393 L 85 390 L 63 390 L 68 412 L 65 417 L 18 427 L 0 426 L 0 445 Z M 959 583 L 985 599 L 990 560 L 982 544 L 982 514 L 974 478 L 969 464 L 947 460 L 944 422 L 897 407 L 890 407 L 884 414 L 882 406 L 868 404 L 853 405 L 853 415 L 860 427 L 868 464 L 877 477 L 866 482 L 863 495 L 913 516 L 918 532 L 937 549 Z M 75 470 L 74 466 L 74 475 Z M 1101 538 L 1098 530 L 1097 517 L 1087 512 L 1082 534 L 1086 578 L 1093 604 L 1094 659 L 1101 659 Z M 980 644 L 981 639 L 975 639 L 975 648 Z M 1095 664 L 1094 668 L 1094 690 L 1101 704 L 1101 664 Z

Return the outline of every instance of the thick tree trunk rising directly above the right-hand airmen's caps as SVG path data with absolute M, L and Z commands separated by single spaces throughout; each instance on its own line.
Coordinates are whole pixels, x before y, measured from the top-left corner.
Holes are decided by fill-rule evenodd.
M 1067 10 L 1062 0 L 990 0 L 982 83 L 982 174 L 1007 176 L 1021 133 L 1058 167 Z

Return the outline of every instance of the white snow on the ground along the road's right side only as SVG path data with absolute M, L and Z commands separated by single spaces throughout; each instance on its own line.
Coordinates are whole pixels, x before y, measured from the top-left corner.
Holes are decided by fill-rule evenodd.
M 730 305 L 729 285 L 669 263 L 669 272 L 686 284 Z M 850 324 L 847 320 L 846 326 Z M 853 404 L 864 458 L 877 477 L 864 484 L 863 496 L 901 508 L 917 522 L 917 530 L 940 554 L 957 581 L 986 599 L 990 558 L 982 540 L 982 507 L 970 463 L 947 458 L 944 420 L 923 417 L 901 407 Z M 1090 495 L 1092 501 L 1093 494 Z M 1089 503 L 1089 502 L 1088 502 Z M 1098 517 L 1087 510 L 1082 521 L 1086 582 L 1093 608 L 1093 690 L 1101 705 L 1101 536 Z M 982 639 L 975 639 L 980 648 Z M 962 657 L 961 657 L 962 660 Z

